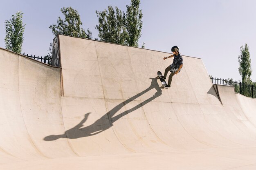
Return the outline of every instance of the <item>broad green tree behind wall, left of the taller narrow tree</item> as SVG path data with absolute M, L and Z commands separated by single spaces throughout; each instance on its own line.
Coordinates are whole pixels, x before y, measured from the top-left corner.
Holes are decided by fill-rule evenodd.
M 108 11 L 96 11 L 99 25 L 95 29 L 99 31 L 100 41 L 126 45 L 127 33 L 123 24 L 122 11 L 108 6 Z

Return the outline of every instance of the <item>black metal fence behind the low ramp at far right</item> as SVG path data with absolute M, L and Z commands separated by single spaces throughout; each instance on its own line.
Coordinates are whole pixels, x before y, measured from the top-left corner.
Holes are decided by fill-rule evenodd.
M 256 86 L 250 84 L 243 84 L 242 82 L 230 81 L 227 79 L 218 79 L 210 77 L 213 84 L 222 84 L 235 87 L 235 92 L 245 95 L 247 97 L 256 98 Z

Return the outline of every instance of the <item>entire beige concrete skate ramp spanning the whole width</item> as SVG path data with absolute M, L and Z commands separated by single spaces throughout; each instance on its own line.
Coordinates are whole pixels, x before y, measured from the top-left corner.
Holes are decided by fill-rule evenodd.
M 0 169 L 256 168 L 256 100 L 183 56 L 58 36 L 61 68 L 0 49 Z M 181 51 L 182 53 L 182 51 Z

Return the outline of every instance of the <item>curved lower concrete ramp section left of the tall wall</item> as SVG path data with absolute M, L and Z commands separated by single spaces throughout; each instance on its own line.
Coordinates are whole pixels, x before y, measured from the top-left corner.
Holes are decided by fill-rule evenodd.
M 0 163 L 74 154 L 63 133 L 61 68 L 0 49 Z M 65 148 L 65 150 L 63 150 Z M 8 159 L 8 160 L 7 160 Z

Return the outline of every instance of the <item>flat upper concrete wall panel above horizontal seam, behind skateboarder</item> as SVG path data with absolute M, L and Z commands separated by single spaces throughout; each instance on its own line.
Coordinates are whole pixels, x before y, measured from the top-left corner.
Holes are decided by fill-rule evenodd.
M 164 73 L 173 61 L 162 60 L 170 53 L 64 35 L 60 35 L 60 49 L 64 96 L 70 97 L 127 100 L 147 89 L 152 84 L 150 78 L 155 78 L 157 71 Z M 220 104 L 202 60 L 186 56 L 183 60 L 172 87 L 155 101 Z M 144 101 L 154 93 L 135 100 Z

